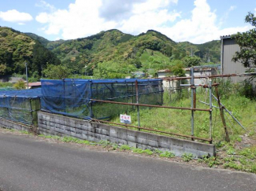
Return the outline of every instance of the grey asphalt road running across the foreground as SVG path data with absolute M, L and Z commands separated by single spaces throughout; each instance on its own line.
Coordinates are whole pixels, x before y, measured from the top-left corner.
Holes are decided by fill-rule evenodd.
M 254 174 L 0 132 L 0 190 L 256 190 Z

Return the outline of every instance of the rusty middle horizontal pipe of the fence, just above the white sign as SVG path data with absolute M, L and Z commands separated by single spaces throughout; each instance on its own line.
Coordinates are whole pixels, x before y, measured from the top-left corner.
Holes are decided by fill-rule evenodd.
M 144 106 L 150 108 L 174 108 L 174 109 L 184 109 L 184 110 L 193 110 L 193 111 L 200 111 L 200 112 L 210 112 L 209 108 L 180 108 L 180 107 L 171 107 L 171 106 L 164 106 L 164 105 L 147 105 L 147 104 L 133 104 L 133 103 L 125 103 L 125 102 L 117 102 L 117 101 L 106 101 L 106 100 L 96 100 L 90 99 L 91 101 L 98 101 L 104 102 L 109 104 L 120 104 L 120 105 L 135 105 L 135 106 Z

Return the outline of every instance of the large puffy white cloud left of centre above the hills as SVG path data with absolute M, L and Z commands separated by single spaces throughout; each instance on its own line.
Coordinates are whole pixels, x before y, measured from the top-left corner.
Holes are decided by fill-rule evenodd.
M 98 17 L 98 7 L 101 0 L 76 0 L 69 9 L 58 9 L 54 13 L 40 13 L 35 20 L 46 24 L 46 34 L 58 35 L 63 39 L 76 39 L 93 35 L 102 30 L 114 28 L 113 21 L 105 21 Z

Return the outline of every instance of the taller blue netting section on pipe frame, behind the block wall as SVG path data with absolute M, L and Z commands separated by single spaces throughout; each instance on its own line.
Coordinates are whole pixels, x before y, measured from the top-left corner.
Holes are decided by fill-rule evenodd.
M 61 79 L 42 82 L 43 111 L 81 119 L 106 119 L 133 109 L 131 105 L 113 105 L 91 99 L 135 103 L 135 81 L 139 103 L 162 105 L 161 79 Z

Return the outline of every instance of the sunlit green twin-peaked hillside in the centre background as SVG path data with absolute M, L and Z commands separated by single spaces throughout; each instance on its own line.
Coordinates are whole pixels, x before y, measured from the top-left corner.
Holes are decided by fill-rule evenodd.
M 86 72 L 98 78 L 108 77 L 109 73 L 113 73 L 112 77 L 123 77 L 137 70 L 147 72 L 149 68 L 156 71 L 186 55 L 176 42 L 152 30 L 133 36 L 113 29 L 87 38 L 48 42 L 46 47 L 72 73 Z M 102 74 L 102 70 L 107 74 Z

